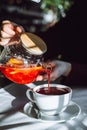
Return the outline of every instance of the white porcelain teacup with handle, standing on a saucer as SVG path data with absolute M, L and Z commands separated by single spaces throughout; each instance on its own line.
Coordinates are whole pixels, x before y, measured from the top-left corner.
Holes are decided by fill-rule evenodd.
M 48 84 L 42 84 L 33 89 L 28 89 L 26 95 L 31 102 L 37 105 L 41 113 L 55 116 L 60 112 L 63 112 L 69 105 L 72 96 L 72 89 L 61 84 L 50 84 L 49 86 L 50 89 L 51 87 L 56 87 L 59 94 L 49 95 L 38 93 L 38 90 L 41 90 L 44 87 L 45 89 L 48 89 Z M 61 92 L 59 90 L 61 90 L 62 94 L 60 94 Z

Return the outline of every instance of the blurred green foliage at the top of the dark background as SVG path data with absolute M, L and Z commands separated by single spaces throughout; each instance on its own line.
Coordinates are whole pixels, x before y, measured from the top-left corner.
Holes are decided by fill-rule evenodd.
M 42 8 L 45 13 L 52 10 L 57 15 L 57 21 L 66 16 L 66 11 L 73 5 L 73 0 L 43 0 Z

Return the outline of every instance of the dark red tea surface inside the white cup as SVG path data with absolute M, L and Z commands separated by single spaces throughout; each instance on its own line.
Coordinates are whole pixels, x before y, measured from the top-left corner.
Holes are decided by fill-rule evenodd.
M 53 87 L 50 87 L 50 90 L 48 89 L 48 87 L 43 87 L 36 90 L 36 92 L 39 94 L 44 94 L 44 95 L 63 95 L 63 94 L 69 93 L 70 90 L 69 88 L 58 88 L 58 87 L 53 86 Z

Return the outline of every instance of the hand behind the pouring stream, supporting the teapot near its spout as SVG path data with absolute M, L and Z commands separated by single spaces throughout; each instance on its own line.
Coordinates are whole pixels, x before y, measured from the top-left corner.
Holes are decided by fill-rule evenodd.
M 51 64 L 52 66 L 52 72 L 50 74 L 51 81 L 56 80 L 62 75 L 68 76 L 71 71 L 71 64 L 68 62 L 54 60 L 54 61 L 47 62 L 47 64 Z M 38 77 L 36 78 L 36 81 L 47 80 L 47 79 L 48 79 L 47 74 L 38 75 Z

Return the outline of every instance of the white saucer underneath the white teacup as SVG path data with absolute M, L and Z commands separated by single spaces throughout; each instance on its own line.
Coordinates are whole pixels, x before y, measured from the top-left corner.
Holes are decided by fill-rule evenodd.
M 27 114 L 29 117 L 37 119 L 38 121 L 56 121 L 60 123 L 77 118 L 78 115 L 81 113 L 81 108 L 78 104 L 71 101 L 66 110 L 61 114 L 58 114 L 57 116 L 48 116 L 40 113 L 35 104 L 29 102 L 24 106 L 24 113 Z

